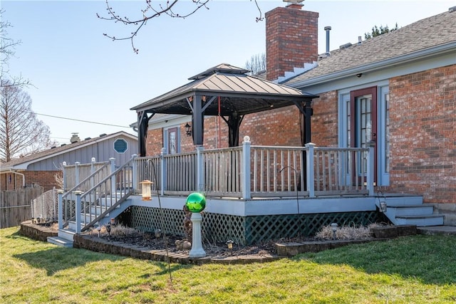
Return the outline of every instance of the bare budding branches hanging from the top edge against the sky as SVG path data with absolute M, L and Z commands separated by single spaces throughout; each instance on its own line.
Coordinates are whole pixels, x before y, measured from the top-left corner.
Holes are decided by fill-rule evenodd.
M 199 9 L 209 9 L 207 4 L 211 0 L 191 0 L 195 6 L 192 7 L 189 11 L 181 11 L 182 8 L 178 7 L 178 2 L 182 0 L 167 0 L 165 3 L 160 4 L 158 1 L 153 1 L 153 0 L 145 0 L 144 7 L 140 9 L 141 15 L 139 19 L 133 19 L 132 17 L 129 16 L 120 16 L 120 14 L 116 13 L 113 9 L 112 6 L 109 4 L 109 0 L 106 1 L 106 15 L 100 15 L 97 14 L 97 17 L 99 19 L 103 20 L 108 20 L 108 21 L 114 21 L 118 23 L 122 23 L 125 26 L 131 26 L 133 27 L 133 31 L 123 37 L 116 37 L 113 35 L 109 35 L 107 33 L 103 33 L 104 36 L 115 40 L 130 40 L 131 46 L 133 48 L 133 51 L 135 53 L 138 53 L 139 49 L 135 47 L 134 43 L 134 38 L 135 36 L 138 35 L 138 32 L 142 28 L 142 26 L 145 26 L 147 24 L 147 21 L 150 21 L 150 19 L 157 18 L 162 15 L 170 16 L 172 18 L 182 18 L 185 19 L 188 16 L 195 14 Z M 250 0 L 252 1 L 252 0 Z M 257 17 L 257 22 L 261 21 L 264 19 L 263 14 L 261 13 L 261 10 L 259 8 L 259 5 L 257 3 L 257 0 L 253 0 L 255 4 L 257 5 L 257 9 L 259 11 L 259 16 Z

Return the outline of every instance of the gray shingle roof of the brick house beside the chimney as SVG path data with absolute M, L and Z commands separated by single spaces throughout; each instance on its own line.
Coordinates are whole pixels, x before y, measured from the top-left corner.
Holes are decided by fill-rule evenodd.
M 300 81 L 406 56 L 455 41 L 456 11 L 447 11 L 368 39 L 361 44 L 332 51 L 331 56 L 318 61 L 318 67 L 286 80 L 284 84 L 293 86 L 293 83 Z

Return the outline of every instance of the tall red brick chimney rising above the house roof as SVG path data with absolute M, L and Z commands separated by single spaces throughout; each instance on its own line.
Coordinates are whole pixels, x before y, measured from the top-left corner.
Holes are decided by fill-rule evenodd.
M 285 1 L 292 3 L 265 14 L 267 80 L 318 59 L 318 13 L 302 11 L 302 1 Z

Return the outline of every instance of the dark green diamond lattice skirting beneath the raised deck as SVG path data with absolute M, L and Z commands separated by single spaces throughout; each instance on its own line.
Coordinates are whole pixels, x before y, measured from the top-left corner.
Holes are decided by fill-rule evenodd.
M 356 211 L 321 214 L 281 214 L 262 216 L 233 216 L 202 213 L 202 238 L 204 241 L 225 242 L 232 240 L 240 245 L 251 245 L 281 238 L 314 236 L 331 223 L 363 225 L 383 221 L 376 211 Z M 141 231 L 162 229 L 167 234 L 185 236 L 184 211 L 144 206 L 130 206 L 121 215 L 121 221 Z

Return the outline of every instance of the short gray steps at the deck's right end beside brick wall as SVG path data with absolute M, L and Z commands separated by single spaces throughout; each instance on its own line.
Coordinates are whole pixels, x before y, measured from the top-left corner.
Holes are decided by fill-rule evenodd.
M 432 204 L 424 204 L 422 196 L 388 195 L 375 199 L 380 208 L 380 201 L 385 201 L 385 216 L 395 225 L 441 226 L 443 215 L 434 214 Z

